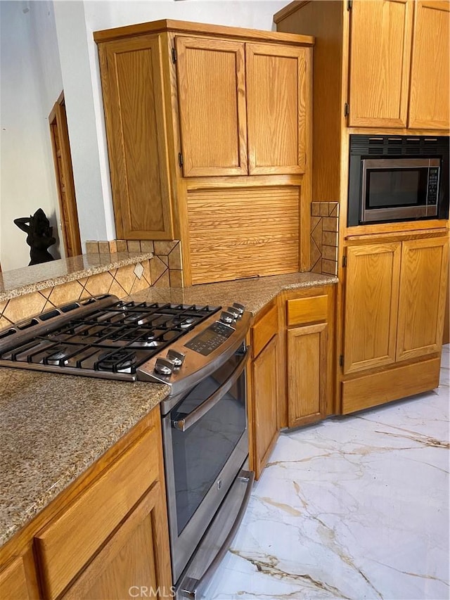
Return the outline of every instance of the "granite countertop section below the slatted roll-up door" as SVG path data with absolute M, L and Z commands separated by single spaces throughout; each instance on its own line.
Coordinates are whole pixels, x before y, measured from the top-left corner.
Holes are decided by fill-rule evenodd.
M 233 302 L 239 302 L 255 315 L 283 290 L 300 290 L 326 286 L 330 283 L 338 283 L 338 278 L 311 272 L 290 273 L 220 283 L 203 283 L 186 288 L 147 288 L 130 295 L 127 299 L 138 302 L 203 303 L 216 306 L 228 306 Z

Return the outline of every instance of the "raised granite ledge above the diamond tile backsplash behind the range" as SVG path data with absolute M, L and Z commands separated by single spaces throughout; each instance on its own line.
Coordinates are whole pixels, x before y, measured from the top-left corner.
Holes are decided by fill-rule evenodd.
M 153 253 L 146 252 L 82 255 L 79 258 L 84 258 L 85 260 L 93 260 L 92 257 L 98 257 L 98 259 L 101 261 L 101 264 L 91 264 L 87 267 L 80 267 L 79 269 L 75 269 L 74 271 L 67 272 L 66 274 L 47 277 L 46 279 L 42 279 L 41 281 L 26 283 L 25 285 L 20 285 L 16 288 L 11 288 L 3 292 L 0 291 L 0 302 L 11 300 L 11 298 L 18 298 L 19 296 L 23 296 L 25 294 L 38 292 L 39 290 L 44 290 L 46 288 L 52 288 L 53 286 L 58 286 L 60 283 L 77 281 L 78 279 L 84 279 L 84 277 L 89 277 L 98 273 L 104 273 L 106 271 L 110 271 L 111 269 L 118 269 L 119 267 L 124 267 L 127 264 L 136 264 L 143 260 L 149 260 L 150 258 L 153 258 Z M 51 263 L 44 264 L 48 265 Z M 5 272 L 3 276 L 6 279 L 8 277 L 8 272 Z

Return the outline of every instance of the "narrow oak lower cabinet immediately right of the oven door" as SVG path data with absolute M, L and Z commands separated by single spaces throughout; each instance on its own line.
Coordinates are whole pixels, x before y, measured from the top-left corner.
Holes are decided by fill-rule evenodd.
M 278 438 L 278 307 L 272 305 L 250 331 L 250 462 L 259 479 Z

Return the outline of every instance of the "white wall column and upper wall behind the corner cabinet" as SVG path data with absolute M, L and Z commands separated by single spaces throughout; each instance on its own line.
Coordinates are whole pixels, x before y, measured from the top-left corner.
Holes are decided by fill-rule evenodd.
M 98 53 L 93 32 L 170 18 L 272 30 L 282 1 L 55 1 L 82 241 L 115 238 Z

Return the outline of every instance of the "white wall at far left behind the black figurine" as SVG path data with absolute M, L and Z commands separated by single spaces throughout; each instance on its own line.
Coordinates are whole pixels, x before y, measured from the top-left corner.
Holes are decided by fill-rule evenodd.
M 0 262 L 6 271 L 30 262 L 26 234 L 13 219 L 42 208 L 60 222 L 49 113 L 63 89 L 51 1 L 0 1 Z M 61 238 L 62 239 L 62 238 Z M 63 249 L 60 250 L 63 252 Z

